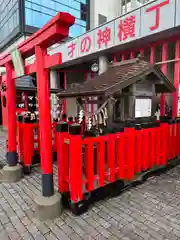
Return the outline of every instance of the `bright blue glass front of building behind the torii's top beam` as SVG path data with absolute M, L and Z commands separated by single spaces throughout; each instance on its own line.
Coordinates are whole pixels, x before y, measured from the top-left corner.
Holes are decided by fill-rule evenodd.
M 70 28 L 70 36 L 77 37 L 86 32 L 86 0 L 25 0 L 26 25 L 41 28 L 58 12 L 68 12 L 76 20 Z

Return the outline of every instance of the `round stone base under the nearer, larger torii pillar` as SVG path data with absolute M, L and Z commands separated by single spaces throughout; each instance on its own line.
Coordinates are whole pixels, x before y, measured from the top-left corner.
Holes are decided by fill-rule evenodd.
M 55 193 L 52 197 L 38 195 L 34 201 L 36 217 L 40 220 L 52 220 L 61 215 L 62 204 L 59 193 Z

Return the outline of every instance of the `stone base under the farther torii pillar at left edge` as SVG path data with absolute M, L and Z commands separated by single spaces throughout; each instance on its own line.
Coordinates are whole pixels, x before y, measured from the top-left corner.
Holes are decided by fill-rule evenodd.
M 4 166 L 2 171 L 2 182 L 12 183 L 19 181 L 23 176 L 22 166 L 17 164 L 16 166 L 10 167 Z

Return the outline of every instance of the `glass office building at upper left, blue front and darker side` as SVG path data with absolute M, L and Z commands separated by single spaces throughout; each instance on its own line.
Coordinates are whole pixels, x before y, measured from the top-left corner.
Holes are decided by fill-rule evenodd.
M 76 17 L 70 37 L 87 31 L 89 0 L 0 0 L 0 51 L 37 31 L 58 12 Z

